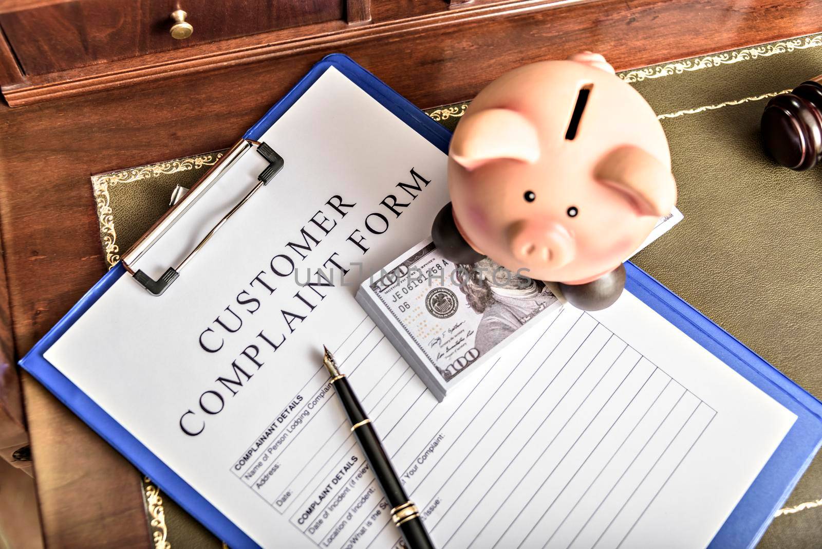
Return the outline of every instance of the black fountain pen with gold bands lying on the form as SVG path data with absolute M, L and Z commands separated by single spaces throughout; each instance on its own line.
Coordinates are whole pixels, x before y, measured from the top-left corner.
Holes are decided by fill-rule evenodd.
M 399 482 L 399 477 L 394 467 L 391 466 L 388 454 L 382 447 L 380 438 L 376 436 L 371 419 L 363 410 L 363 405 L 359 403 L 345 374 L 339 373 L 334 356 L 328 348 L 325 346 L 323 348 L 325 354 L 322 357 L 322 363 L 326 365 L 331 376 L 331 383 L 334 384 L 334 388 L 339 394 L 339 400 L 345 408 L 345 414 L 349 417 L 351 432 L 357 439 L 360 448 L 363 449 L 363 454 L 365 454 L 368 465 L 376 477 L 376 482 L 380 484 L 382 493 L 386 496 L 388 505 L 391 505 L 391 517 L 394 520 L 394 525 L 402 533 L 405 547 L 409 547 L 409 549 L 433 549 L 434 544 L 423 526 L 423 520 L 420 519 L 417 505 L 409 500 L 402 482 Z

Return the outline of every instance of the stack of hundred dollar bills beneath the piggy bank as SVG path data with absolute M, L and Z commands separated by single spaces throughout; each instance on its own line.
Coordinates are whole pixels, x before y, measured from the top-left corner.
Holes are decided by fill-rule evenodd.
M 681 219 L 674 208 L 637 251 Z M 427 238 L 363 282 L 357 301 L 442 401 L 529 326 L 559 314 L 561 302 L 526 274 L 488 259 L 455 265 Z

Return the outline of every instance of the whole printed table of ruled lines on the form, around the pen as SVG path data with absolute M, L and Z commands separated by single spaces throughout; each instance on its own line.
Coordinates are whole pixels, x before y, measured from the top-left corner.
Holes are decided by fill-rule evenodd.
M 580 311 L 443 404 L 369 319 L 337 353 L 438 547 L 620 547 L 717 415 Z M 317 371 L 304 390 L 326 383 Z M 301 423 L 312 435 L 249 487 L 318 547 L 390 547 L 388 505 L 327 392 Z

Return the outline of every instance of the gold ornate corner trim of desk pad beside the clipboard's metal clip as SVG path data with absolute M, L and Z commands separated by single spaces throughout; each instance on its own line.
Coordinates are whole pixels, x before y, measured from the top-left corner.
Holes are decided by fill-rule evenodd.
M 213 166 L 222 158 L 223 153 L 192 156 L 186 159 L 170 160 L 158 164 L 149 164 L 116 173 L 103 173 L 91 176 L 91 187 L 97 203 L 97 219 L 100 225 L 100 241 L 103 242 L 105 260 L 109 269 L 120 261 L 120 247 L 117 245 L 117 230 L 114 228 L 114 217 L 111 210 L 109 189 L 122 183 L 131 183 L 145 178 L 156 178 L 160 175 L 183 172 L 189 169 Z

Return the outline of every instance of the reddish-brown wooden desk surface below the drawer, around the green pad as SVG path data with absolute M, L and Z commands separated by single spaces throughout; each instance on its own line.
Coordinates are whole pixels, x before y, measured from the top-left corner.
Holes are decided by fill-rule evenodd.
M 524 62 L 591 49 L 622 70 L 810 34 L 818 21 L 822 3 L 810 0 L 582 2 L 2 106 L 0 236 L 16 355 L 104 274 L 90 173 L 231 145 L 326 53 L 348 53 L 425 108 L 473 97 Z M 148 547 L 139 474 L 30 376 L 21 384 L 48 546 Z

